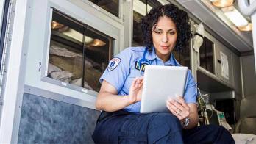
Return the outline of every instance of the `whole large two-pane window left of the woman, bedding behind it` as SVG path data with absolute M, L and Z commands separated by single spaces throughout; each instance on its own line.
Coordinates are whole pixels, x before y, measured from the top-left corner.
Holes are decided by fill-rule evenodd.
M 47 76 L 99 91 L 112 47 L 112 37 L 53 10 Z

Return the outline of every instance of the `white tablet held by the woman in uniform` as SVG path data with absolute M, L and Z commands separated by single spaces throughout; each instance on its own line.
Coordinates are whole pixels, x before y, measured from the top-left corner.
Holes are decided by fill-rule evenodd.
M 187 73 L 188 67 L 146 65 L 140 112 L 169 112 L 166 100 L 183 96 Z

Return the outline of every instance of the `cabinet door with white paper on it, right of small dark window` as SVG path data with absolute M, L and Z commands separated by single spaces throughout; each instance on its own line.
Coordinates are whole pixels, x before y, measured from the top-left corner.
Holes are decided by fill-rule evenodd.
M 232 52 L 224 46 L 216 45 L 216 76 L 223 82 L 234 86 Z

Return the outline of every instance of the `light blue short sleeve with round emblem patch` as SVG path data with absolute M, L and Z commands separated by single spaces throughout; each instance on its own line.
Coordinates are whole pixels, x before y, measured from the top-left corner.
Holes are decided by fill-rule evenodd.
M 124 49 L 120 54 L 113 57 L 100 77 L 99 82 L 102 83 L 105 80 L 119 92 L 129 74 L 131 58 L 132 51 L 129 48 Z

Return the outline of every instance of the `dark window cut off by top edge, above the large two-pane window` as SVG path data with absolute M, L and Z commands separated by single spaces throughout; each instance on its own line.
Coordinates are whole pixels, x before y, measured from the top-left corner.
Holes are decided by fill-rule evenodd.
M 119 18 L 119 0 L 89 0 Z

